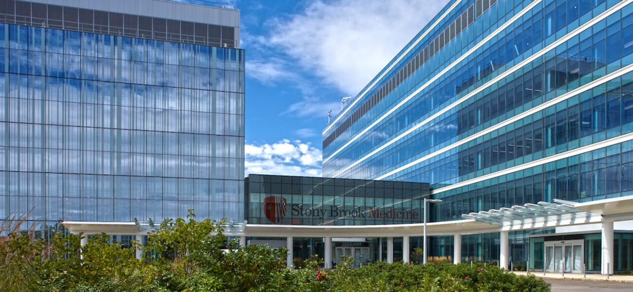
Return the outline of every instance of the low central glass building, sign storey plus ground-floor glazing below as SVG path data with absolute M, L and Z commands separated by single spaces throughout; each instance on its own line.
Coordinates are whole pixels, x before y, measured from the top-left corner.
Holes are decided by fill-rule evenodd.
M 244 183 L 244 209 L 248 224 L 416 224 L 423 221 L 423 200 L 429 198 L 428 183 L 261 174 L 249 174 Z M 362 238 L 332 238 L 332 264 L 339 263 L 341 255 L 353 257 L 356 266 L 387 260 L 387 238 L 381 236 L 374 234 L 372 237 Z M 287 245 L 286 237 L 249 237 L 248 243 L 273 247 L 292 246 L 292 263 L 296 265 L 311 255 L 319 255 L 325 259 L 323 238 L 291 237 L 290 240 L 292 245 Z M 403 259 L 402 238 L 391 240 L 395 246 L 394 259 Z M 412 246 L 422 246 L 422 242 L 414 241 Z

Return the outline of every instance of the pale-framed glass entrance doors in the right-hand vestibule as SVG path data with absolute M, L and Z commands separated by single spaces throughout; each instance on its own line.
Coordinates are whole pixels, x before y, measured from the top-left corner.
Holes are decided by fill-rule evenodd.
M 545 263 L 548 272 L 577 272 L 583 270 L 583 241 L 546 241 Z

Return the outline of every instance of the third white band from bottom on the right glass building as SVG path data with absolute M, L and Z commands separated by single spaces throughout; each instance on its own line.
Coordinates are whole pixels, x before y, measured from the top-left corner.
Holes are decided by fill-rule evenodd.
M 627 4 L 633 2 L 633 0 L 629 0 L 629 1 L 625 1 L 626 4 L 624 3 L 618 3 L 618 4 L 622 4 L 622 6 L 626 6 Z M 469 94 L 465 95 L 464 97 L 462 97 L 459 100 L 456 100 L 455 102 L 453 102 L 453 104 L 451 104 L 448 107 L 445 107 L 444 109 L 442 109 L 441 111 L 437 112 L 436 114 L 430 116 L 429 118 L 425 119 L 424 121 L 418 123 L 418 125 L 413 126 L 412 128 L 410 128 L 407 131 L 404 131 L 403 133 L 401 133 L 400 135 L 398 135 L 398 137 L 393 138 L 391 141 L 385 143 L 384 145 L 380 146 L 379 148 L 373 150 L 372 152 L 370 152 L 369 154 L 365 155 L 364 157 L 362 157 L 361 159 L 359 159 L 358 161 L 354 161 L 353 164 L 350 164 L 349 166 L 345 167 L 344 169 L 342 169 L 341 171 L 337 172 L 336 174 L 332 175 L 333 178 L 339 176 L 340 174 L 344 173 L 345 171 L 348 171 L 351 167 L 356 166 L 357 164 L 359 164 L 360 162 L 365 161 L 366 159 L 372 157 L 373 155 L 377 154 L 378 152 L 380 152 L 380 150 L 385 149 L 386 147 L 389 147 L 389 145 L 392 145 L 395 142 L 398 142 L 398 140 L 400 140 L 401 138 L 406 137 L 407 135 L 409 135 L 410 133 L 412 133 L 415 130 L 418 130 L 418 128 L 426 125 L 427 123 L 430 123 L 430 121 L 432 121 L 433 119 L 441 116 L 441 114 L 446 113 L 447 111 L 449 111 L 450 109 L 453 109 L 453 107 L 458 106 L 459 104 L 461 104 L 462 102 L 465 102 L 467 99 L 469 99 L 470 97 L 472 97 L 475 94 L 478 94 L 479 92 L 481 92 L 482 90 L 486 89 L 487 87 L 490 87 L 492 84 L 499 82 L 502 78 L 505 78 L 506 76 L 509 76 L 510 74 L 514 73 L 515 71 L 519 70 L 520 68 L 523 68 L 523 66 L 529 64 L 530 62 L 534 61 L 535 59 L 541 57 L 542 55 L 544 55 L 546 52 L 551 51 L 553 49 L 556 49 L 557 46 L 560 46 L 560 44 L 562 44 L 563 42 L 566 42 L 567 40 L 571 39 L 572 37 L 575 37 L 576 35 L 578 35 L 580 32 L 582 32 L 583 30 L 586 30 L 587 28 L 591 27 L 592 25 L 598 23 L 599 21 L 605 19 L 606 17 L 608 17 L 609 15 L 615 13 L 616 11 L 618 11 L 620 8 L 622 7 L 617 7 L 618 5 L 613 6 L 611 9 L 608 9 L 607 11 L 601 13 L 601 15 L 596 16 L 596 18 L 592 18 L 592 20 L 587 21 L 586 23 L 584 23 L 583 25 L 580 25 L 580 27 L 576 28 L 575 30 L 573 30 L 572 32 L 568 33 L 567 35 L 565 35 L 564 37 L 561 37 L 560 39 L 556 40 L 555 42 L 553 42 L 552 44 L 550 44 L 549 46 L 541 49 L 541 51 L 537 52 L 536 54 L 533 54 L 532 56 L 530 56 L 529 58 L 526 58 L 525 60 L 521 61 L 520 63 L 516 64 L 515 66 L 513 66 L 512 68 L 510 68 L 509 70 L 506 70 L 505 72 L 499 74 L 498 76 L 496 76 L 495 78 L 492 78 L 489 82 L 487 82 L 486 84 L 480 86 L 479 88 L 473 90 L 472 92 L 470 92 Z M 619 70 L 618 70 L 619 71 Z M 411 95 L 412 96 L 412 95 Z M 475 134 L 477 135 L 477 134 Z M 479 137 L 479 136 L 477 136 Z M 476 137 L 475 137 L 476 138 Z M 470 139 L 472 140 L 472 139 Z M 468 141 L 470 141 L 468 140 Z M 437 155 L 440 154 L 442 152 L 445 152 L 453 147 L 457 147 L 461 145 L 461 142 L 456 142 L 453 143 L 453 145 L 449 145 L 448 147 L 445 147 L 444 149 L 438 150 L 436 152 L 434 152 L 434 154 L 429 154 L 429 155 Z M 334 154 L 332 154 L 334 155 Z M 332 157 L 332 155 L 330 155 L 330 157 Z M 423 157 L 423 159 L 429 159 L 429 155 L 426 155 L 425 157 Z M 323 159 L 323 162 L 326 162 L 328 159 Z M 416 161 L 420 161 L 420 159 L 416 160 Z M 411 162 L 413 163 L 413 162 Z M 416 162 L 418 163 L 418 162 Z M 409 164 L 407 164 L 409 165 Z M 400 167 L 399 169 L 401 170 L 402 167 Z M 405 167 L 406 168 L 406 167 Z M 398 171 L 398 170 L 397 170 Z M 397 172 L 396 171 L 396 172 Z M 391 174 L 394 173 L 394 171 L 390 172 Z M 391 174 L 385 174 L 383 176 L 380 176 L 380 178 L 384 178 L 384 176 L 388 176 Z M 378 179 L 380 179 L 378 178 Z

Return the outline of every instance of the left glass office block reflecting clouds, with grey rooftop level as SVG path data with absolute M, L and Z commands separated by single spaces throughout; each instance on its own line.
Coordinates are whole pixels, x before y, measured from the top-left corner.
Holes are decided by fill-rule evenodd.
M 244 218 L 239 11 L 180 2 L 0 0 L 0 217 Z

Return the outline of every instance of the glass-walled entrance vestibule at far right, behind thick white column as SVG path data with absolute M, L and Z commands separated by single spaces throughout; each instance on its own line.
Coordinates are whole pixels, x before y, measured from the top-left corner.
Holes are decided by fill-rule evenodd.
M 530 236 L 530 270 L 545 272 L 600 272 L 601 234 L 534 234 Z M 613 271 L 633 268 L 633 233 L 613 234 Z

